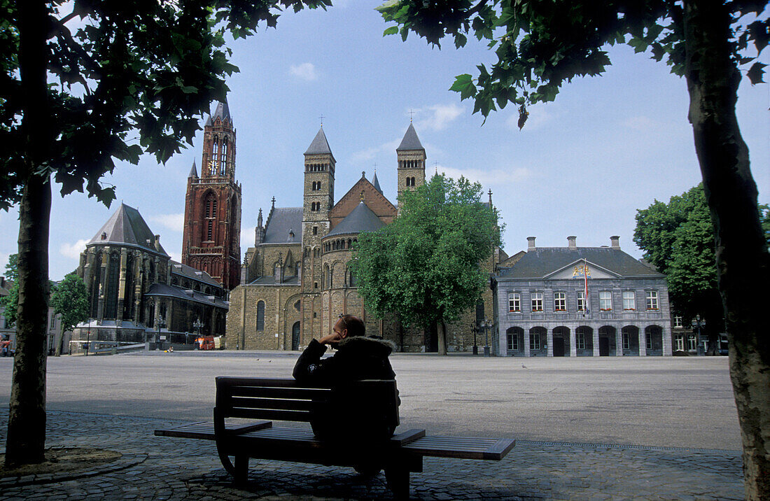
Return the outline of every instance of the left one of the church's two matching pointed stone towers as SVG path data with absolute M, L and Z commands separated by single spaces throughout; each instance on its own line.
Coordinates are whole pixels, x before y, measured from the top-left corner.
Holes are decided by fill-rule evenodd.
M 334 169 L 323 125 L 305 152 L 305 189 L 302 212 L 304 292 L 320 292 L 321 239 L 330 230 L 329 211 L 334 205 Z

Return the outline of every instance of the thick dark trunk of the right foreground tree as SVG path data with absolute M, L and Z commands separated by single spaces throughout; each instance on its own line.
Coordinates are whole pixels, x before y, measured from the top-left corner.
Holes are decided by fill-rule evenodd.
M 685 2 L 689 119 L 716 235 L 730 376 L 743 441 L 746 499 L 770 499 L 770 340 L 765 295 L 770 254 L 757 188 L 735 117 L 741 73 L 731 60 L 731 18 L 721 2 Z

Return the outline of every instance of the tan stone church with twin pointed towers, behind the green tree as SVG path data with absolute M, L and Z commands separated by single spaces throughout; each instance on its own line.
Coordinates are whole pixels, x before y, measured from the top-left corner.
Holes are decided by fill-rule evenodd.
M 396 149 L 397 193 L 425 182 L 426 153 L 410 123 Z M 350 272 L 351 245 L 360 232 L 372 232 L 397 216 L 397 205 L 380 187 L 377 172 L 362 172 L 335 199 L 336 159 L 323 126 L 304 153 L 302 207 L 276 207 L 267 218 L 259 210 L 254 247 L 246 251 L 241 285 L 230 292 L 228 346 L 238 349 L 296 350 L 331 331 L 340 314 L 360 316 L 367 334 L 393 341 L 403 352 L 436 351 L 436 332 L 406 329 L 398 318 L 377 319 L 367 312 Z M 491 193 L 490 193 L 491 205 Z M 507 256 L 495 249 L 484 269 L 494 272 Z M 491 291 L 474 312 L 447 326 L 450 351 L 470 351 L 472 326 L 493 318 Z M 476 324 L 477 325 L 477 324 Z

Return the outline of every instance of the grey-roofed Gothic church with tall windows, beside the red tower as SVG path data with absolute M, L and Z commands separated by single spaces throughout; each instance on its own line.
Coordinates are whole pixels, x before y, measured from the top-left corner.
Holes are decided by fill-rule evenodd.
M 83 342 L 136 343 L 166 337 L 183 343 L 194 332 L 223 335 L 226 291 L 206 272 L 172 261 L 139 211 L 121 204 L 80 255 L 78 275 L 90 320 L 75 327 Z M 158 319 L 162 319 L 158 325 Z M 193 322 L 203 322 L 196 329 Z

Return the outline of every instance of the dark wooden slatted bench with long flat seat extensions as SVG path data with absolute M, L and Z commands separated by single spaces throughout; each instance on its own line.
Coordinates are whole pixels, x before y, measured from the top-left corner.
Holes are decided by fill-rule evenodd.
M 399 424 L 398 393 L 393 380 L 351 382 L 344 398 L 378 402 L 385 421 Z M 215 440 L 219 459 L 236 483 L 245 483 L 249 458 L 276 459 L 295 463 L 352 466 L 360 473 L 385 470 L 388 486 L 397 497 L 409 496 L 409 475 L 423 470 L 423 456 L 500 460 L 514 447 L 514 439 L 426 436 L 423 429 L 410 429 L 377 444 L 362 456 L 336 440 L 320 440 L 313 430 L 273 426 L 273 420 L 309 423 L 340 394 L 313 388 L 294 379 L 216 378 L 216 407 L 213 423 L 190 423 L 171 429 L 156 429 L 157 436 Z M 366 406 L 363 406 L 366 407 Z M 358 416 L 360 417 L 360 416 Z M 381 416 L 380 416 L 381 417 Z M 234 423 L 233 418 L 250 419 Z M 381 419 L 380 419 L 381 421 Z M 230 457 L 234 458 L 231 461 Z

